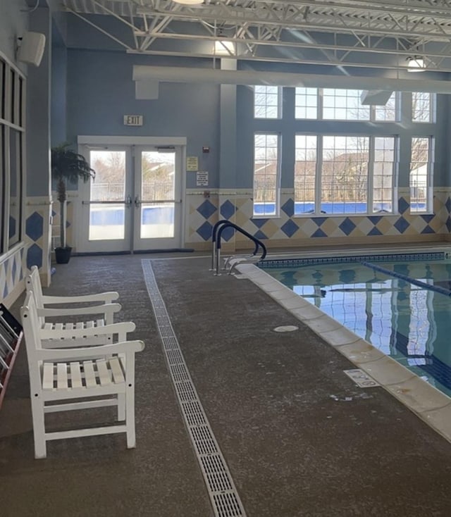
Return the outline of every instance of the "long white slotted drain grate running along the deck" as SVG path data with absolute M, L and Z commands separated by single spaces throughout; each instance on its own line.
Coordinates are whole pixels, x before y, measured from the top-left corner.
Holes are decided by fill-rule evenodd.
M 163 351 L 168 363 L 178 403 L 194 445 L 197 461 L 213 505 L 215 517 L 245 517 L 240 496 L 223 457 L 218 442 L 206 418 L 180 345 L 171 325 L 163 298 L 156 285 L 151 261 L 142 261 L 144 280 L 156 318 Z

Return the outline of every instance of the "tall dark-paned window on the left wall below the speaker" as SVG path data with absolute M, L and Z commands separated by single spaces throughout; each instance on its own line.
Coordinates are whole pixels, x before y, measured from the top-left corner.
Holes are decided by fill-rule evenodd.
M 0 55 L 0 253 L 22 238 L 24 104 L 23 75 Z

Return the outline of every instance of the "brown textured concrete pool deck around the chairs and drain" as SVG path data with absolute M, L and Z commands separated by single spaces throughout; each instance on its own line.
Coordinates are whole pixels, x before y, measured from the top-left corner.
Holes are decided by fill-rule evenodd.
M 215 277 L 209 258 L 173 254 L 73 257 L 57 266 L 47 293 L 117 290 L 120 319 L 134 320 L 132 337 L 146 343 L 137 356 L 137 448 L 125 449 L 121 435 L 88 437 L 51 442 L 46 460 L 33 459 L 23 347 L 0 412 L 2 516 L 214 516 L 143 259 L 247 516 L 449 515 L 450 442 L 385 388 L 359 388 L 345 375 L 354 364 L 338 348 L 353 344 L 330 346 L 279 303 L 290 305 L 288 298 L 276 302 L 247 279 Z M 334 324 L 323 321 L 331 336 Z M 281 325 L 299 329 L 275 332 Z

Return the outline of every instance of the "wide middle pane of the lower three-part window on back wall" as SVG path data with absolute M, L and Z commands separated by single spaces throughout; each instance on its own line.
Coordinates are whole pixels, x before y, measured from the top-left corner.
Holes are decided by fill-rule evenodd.
M 369 137 L 323 137 L 321 211 L 368 211 Z

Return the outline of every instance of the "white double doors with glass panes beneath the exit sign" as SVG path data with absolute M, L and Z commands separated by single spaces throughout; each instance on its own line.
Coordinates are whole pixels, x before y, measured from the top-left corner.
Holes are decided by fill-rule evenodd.
M 85 145 L 96 171 L 80 185 L 77 251 L 181 247 L 182 146 Z

